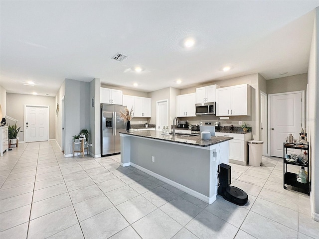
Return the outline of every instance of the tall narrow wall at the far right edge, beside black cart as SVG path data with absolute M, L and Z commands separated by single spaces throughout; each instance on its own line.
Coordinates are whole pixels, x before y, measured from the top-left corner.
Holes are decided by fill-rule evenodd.
M 307 128 L 311 158 L 311 201 L 312 218 L 319 221 L 319 8 L 316 8 L 315 26 L 313 31 L 308 68 L 308 110 Z

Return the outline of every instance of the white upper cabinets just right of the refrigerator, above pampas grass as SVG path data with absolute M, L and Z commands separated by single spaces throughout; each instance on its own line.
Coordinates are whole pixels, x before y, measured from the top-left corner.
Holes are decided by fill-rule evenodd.
M 123 105 L 131 110 L 133 106 L 134 117 L 152 117 L 152 99 L 139 96 L 123 95 Z

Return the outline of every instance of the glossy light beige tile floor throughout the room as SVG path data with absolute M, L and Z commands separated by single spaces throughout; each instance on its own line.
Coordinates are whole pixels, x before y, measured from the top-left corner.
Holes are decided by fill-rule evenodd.
M 1 239 L 311 239 L 307 194 L 283 189 L 283 162 L 232 166 L 244 206 L 208 205 L 120 155 L 64 158 L 56 142 L 21 143 L 0 157 Z M 291 168 L 291 170 L 298 170 Z

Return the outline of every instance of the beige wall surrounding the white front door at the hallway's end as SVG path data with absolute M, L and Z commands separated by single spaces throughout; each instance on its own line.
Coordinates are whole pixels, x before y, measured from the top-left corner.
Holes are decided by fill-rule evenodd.
M 17 127 L 24 127 L 24 105 L 49 106 L 49 139 L 55 139 L 55 98 L 50 96 L 33 96 L 6 93 L 6 115 L 17 119 Z M 7 120 L 8 124 L 14 124 Z M 24 141 L 24 132 L 19 132 L 20 141 Z

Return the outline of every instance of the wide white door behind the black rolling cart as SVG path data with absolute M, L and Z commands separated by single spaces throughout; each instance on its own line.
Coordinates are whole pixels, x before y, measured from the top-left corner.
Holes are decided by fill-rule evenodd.
M 299 138 L 304 125 L 304 92 L 289 92 L 269 95 L 270 155 L 283 157 L 283 143 L 288 134 Z

